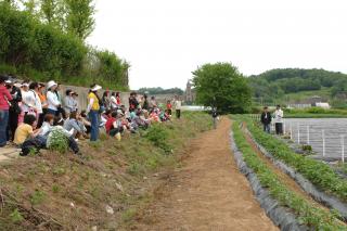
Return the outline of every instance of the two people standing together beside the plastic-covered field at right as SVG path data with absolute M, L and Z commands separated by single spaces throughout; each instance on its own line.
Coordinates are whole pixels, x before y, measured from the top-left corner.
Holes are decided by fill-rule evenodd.
M 271 123 L 273 121 L 275 133 L 283 134 L 283 111 L 281 110 L 281 105 L 277 105 L 273 114 L 271 114 L 269 108 L 265 106 L 260 116 L 260 121 L 264 126 L 265 132 L 271 132 Z

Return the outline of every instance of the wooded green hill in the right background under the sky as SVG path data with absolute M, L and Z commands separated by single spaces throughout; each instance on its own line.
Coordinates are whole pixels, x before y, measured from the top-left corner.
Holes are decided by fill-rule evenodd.
M 248 77 L 254 98 L 266 102 L 287 99 L 291 95 L 320 94 L 346 99 L 347 75 L 324 69 L 271 69 Z

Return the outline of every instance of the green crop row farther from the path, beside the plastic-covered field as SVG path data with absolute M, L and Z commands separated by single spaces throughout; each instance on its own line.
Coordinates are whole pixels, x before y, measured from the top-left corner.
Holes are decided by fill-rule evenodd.
M 318 188 L 347 201 L 347 180 L 340 178 L 330 166 L 319 161 L 296 154 L 283 141 L 273 138 L 254 123 L 246 119 L 249 131 L 259 144 L 267 149 L 274 158 L 281 159 Z

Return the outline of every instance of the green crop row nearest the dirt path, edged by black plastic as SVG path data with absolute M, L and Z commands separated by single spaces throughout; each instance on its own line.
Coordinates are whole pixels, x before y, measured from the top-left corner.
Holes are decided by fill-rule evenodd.
M 313 230 L 346 230 L 345 226 L 337 222 L 338 215 L 313 206 L 281 182 L 275 172 L 270 170 L 261 158 L 254 153 L 239 128 L 239 123 L 233 124 L 233 132 L 245 163 L 257 175 L 261 185 L 269 190 L 271 196 L 277 198 L 282 205 L 290 207 L 303 223 L 311 227 Z

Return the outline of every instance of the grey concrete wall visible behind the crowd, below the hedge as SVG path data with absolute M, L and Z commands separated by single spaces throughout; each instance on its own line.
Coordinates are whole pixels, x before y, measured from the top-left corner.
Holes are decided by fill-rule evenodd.
M 65 92 L 67 89 L 72 89 L 74 92 L 78 93 L 79 108 L 86 110 L 89 88 L 61 85 L 61 95 L 63 97 L 63 99 L 66 95 Z M 104 90 L 101 90 L 99 92 L 99 97 L 102 98 L 103 93 L 104 93 Z M 126 105 L 126 107 L 129 107 L 129 100 L 128 100 L 129 97 L 130 97 L 130 92 L 120 92 L 121 104 Z

